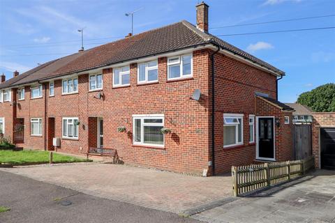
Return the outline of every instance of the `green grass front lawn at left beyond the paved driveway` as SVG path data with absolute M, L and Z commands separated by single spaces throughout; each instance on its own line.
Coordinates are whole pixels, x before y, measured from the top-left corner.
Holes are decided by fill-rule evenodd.
M 54 153 L 53 162 L 86 162 L 86 159 L 71 157 L 68 155 L 61 155 Z M 89 160 L 91 161 L 91 160 Z M 8 164 L 38 164 L 49 162 L 48 151 L 1 151 L 0 163 Z

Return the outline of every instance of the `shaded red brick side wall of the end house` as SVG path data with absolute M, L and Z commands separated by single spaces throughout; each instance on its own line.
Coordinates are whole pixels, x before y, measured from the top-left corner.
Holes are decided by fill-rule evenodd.
M 255 144 L 249 144 L 248 116 L 256 115 L 255 91 L 276 97 L 276 77 L 223 54 L 216 54 L 215 66 L 215 163 L 216 173 L 222 173 L 230 171 L 232 165 L 251 164 L 255 160 Z M 244 114 L 243 145 L 223 148 L 225 113 Z

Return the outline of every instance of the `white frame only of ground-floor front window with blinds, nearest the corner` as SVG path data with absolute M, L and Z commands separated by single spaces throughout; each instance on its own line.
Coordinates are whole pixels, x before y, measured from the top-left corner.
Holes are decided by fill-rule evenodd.
M 141 120 L 141 141 L 135 141 L 135 119 Z M 144 123 L 144 119 L 162 119 L 162 123 Z M 153 146 L 163 148 L 165 145 L 165 135 L 163 134 L 163 144 L 146 144 L 144 143 L 144 126 L 161 126 L 164 128 L 164 114 L 135 114 L 133 115 L 133 144 L 140 146 Z

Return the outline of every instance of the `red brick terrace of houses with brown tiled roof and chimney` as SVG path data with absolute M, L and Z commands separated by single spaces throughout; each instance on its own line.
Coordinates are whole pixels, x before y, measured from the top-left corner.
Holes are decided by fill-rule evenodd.
M 196 26 L 15 72 L 0 84 L 0 128 L 24 148 L 52 151 L 59 138 L 64 153 L 114 148 L 126 163 L 192 174 L 290 160 L 293 109 L 277 100 L 285 72 L 211 35 L 208 9 L 196 6 Z

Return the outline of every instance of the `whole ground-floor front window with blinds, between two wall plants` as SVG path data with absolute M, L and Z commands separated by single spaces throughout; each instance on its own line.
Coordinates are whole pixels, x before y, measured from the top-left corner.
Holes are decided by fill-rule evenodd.
M 164 115 L 133 115 L 133 144 L 164 146 Z

